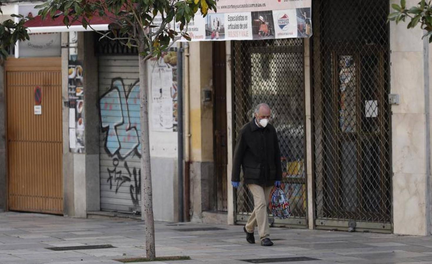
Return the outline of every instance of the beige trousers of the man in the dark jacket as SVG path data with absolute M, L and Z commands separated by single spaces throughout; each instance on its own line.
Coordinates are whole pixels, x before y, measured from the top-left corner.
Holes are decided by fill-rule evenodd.
M 246 223 L 246 231 L 254 233 L 255 227 L 258 227 L 260 239 L 263 240 L 270 236 L 267 205 L 273 186 L 263 187 L 257 184 L 248 184 L 248 188 L 254 196 L 254 211 Z

